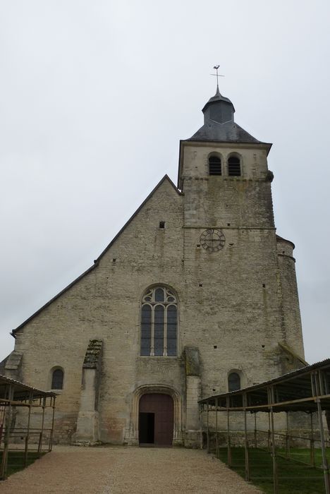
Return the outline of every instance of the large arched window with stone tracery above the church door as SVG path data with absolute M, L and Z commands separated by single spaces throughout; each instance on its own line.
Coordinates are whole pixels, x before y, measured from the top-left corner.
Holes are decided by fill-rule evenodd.
M 166 287 L 147 289 L 141 304 L 142 356 L 176 356 L 178 303 Z

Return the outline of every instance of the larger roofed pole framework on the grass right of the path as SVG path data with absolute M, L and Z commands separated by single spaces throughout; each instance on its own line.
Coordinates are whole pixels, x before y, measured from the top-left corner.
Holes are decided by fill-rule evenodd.
M 286 457 L 290 457 L 290 442 L 294 439 L 310 443 L 310 466 L 315 466 L 314 444 L 319 442 L 322 450 L 322 470 L 324 472 L 325 493 L 330 494 L 329 464 L 326 458 L 326 431 L 324 430 L 323 411 L 330 410 L 330 359 L 314 363 L 310 366 L 294 370 L 291 373 L 262 382 L 261 384 L 246 387 L 245 389 L 217 394 L 200 400 L 201 416 L 201 447 L 202 447 L 202 418 L 206 414 L 207 451 L 210 452 L 211 429 L 209 414 L 215 414 L 213 423 L 215 433 L 215 448 L 219 457 L 219 430 L 218 412 L 226 413 L 226 445 L 228 466 L 231 466 L 231 413 L 241 412 L 244 416 L 244 450 L 245 450 L 245 479 L 250 481 L 249 464 L 249 434 L 247 430 L 247 412 L 255 414 L 255 429 L 252 435 L 253 447 L 257 447 L 257 433 L 266 434 L 268 450 L 271 452 L 273 466 L 274 494 L 279 493 L 279 476 L 276 464 L 275 437 L 281 437 L 285 444 Z M 310 414 L 310 434 L 308 437 L 298 437 L 290 434 L 288 413 L 305 411 Z M 268 430 L 257 430 L 257 413 L 267 412 Z M 274 414 L 286 412 L 286 433 L 278 433 L 274 428 Z M 317 433 L 313 426 L 313 414 L 317 416 Z M 279 456 L 279 455 L 277 455 Z

